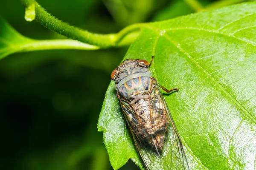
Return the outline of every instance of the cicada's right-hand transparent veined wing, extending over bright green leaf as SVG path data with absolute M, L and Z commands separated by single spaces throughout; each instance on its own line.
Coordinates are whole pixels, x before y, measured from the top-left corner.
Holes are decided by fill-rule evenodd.
M 166 120 L 168 121 L 167 136 L 160 156 L 163 157 L 161 159 L 161 164 L 163 164 L 165 170 L 189 170 L 180 135 L 163 94 L 154 78 L 152 78 L 152 87 L 149 97 L 151 115 L 158 115 L 159 119 L 161 119 L 162 116 L 166 116 Z

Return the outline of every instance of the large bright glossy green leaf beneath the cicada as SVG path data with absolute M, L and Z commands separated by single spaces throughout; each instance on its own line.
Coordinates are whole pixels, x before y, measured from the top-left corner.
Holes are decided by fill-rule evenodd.
M 143 26 L 124 59 L 155 59 L 190 169 L 255 169 L 256 3 L 243 3 Z M 113 169 L 141 167 L 114 82 L 98 122 Z M 157 162 L 155 162 L 157 164 Z M 155 169 L 155 168 L 153 168 Z

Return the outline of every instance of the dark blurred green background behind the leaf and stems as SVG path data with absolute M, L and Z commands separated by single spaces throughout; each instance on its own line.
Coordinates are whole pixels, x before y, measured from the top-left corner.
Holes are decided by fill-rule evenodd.
M 213 0 L 201 0 L 202 5 Z M 132 23 L 195 12 L 183 0 L 38 0 L 70 25 L 114 33 Z M 63 38 L 24 20 L 19 0 L 0 15 L 24 36 Z M 4 170 L 111 170 L 97 121 L 114 65 L 128 47 L 12 54 L 0 61 L 1 167 Z M 139 54 L 138 54 L 139 57 Z M 139 169 L 131 161 L 121 170 Z

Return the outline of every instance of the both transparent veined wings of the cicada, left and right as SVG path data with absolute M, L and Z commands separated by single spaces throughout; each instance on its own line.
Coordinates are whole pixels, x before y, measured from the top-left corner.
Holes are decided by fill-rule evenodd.
M 152 78 L 151 90 L 148 95 L 148 109 L 152 126 L 152 130 L 145 131 L 148 140 L 145 140 L 145 137 L 143 139 L 137 133 L 139 129 L 144 128 L 143 126 L 148 123 L 145 121 L 148 120 L 141 117 L 133 105 L 121 96 L 119 96 L 119 102 L 145 170 L 189 170 L 180 136 L 155 79 Z M 157 128 L 158 130 L 155 130 Z M 159 134 L 161 130 L 163 131 L 161 134 L 165 136 L 164 141 L 154 143 L 152 140 L 152 146 L 149 146 L 149 140 L 156 138 L 152 131 Z

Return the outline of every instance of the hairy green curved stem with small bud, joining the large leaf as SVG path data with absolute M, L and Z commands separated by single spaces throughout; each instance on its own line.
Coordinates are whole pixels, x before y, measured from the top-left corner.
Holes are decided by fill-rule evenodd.
M 58 34 L 64 35 L 73 40 L 98 46 L 99 48 L 109 48 L 131 43 L 136 38 L 134 36 L 135 34 L 126 39 L 125 42 L 123 39 L 133 31 L 137 32 L 140 29 L 140 26 L 143 25 L 134 24 L 132 26 L 128 26 L 117 34 L 93 34 L 89 31 L 70 26 L 68 23 L 58 20 L 45 11 L 44 8 L 42 8 L 35 0 L 21 0 L 21 2 L 26 8 L 25 18 L 27 21 L 32 21 L 34 17 L 36 21 L 41 23 L 41 25 L 57 32 Z M 33 8 L 35 9 L 35 13 L 33 13 Z M 35 16 L 33 16 L 33 14 L 35 14 Z M 131 39 L 131 37 L 133 39 Z

